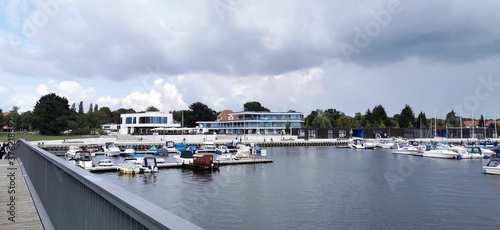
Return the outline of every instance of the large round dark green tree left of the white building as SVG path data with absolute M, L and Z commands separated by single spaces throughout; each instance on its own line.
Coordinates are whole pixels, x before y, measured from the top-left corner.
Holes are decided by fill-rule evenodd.
M 55 135 L 67 129 L 71 110 L 68 99 L 50 93 L 36 102 L 33 114 L 35 115 L 34 126 L 40 134 Z

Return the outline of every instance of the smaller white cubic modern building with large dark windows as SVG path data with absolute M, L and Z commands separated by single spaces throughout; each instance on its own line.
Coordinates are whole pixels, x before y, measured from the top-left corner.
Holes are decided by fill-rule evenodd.
M 145 112 L 121 114 L 120 134 L 151 134 L 155 131 L 179 130 L 171 113 Z

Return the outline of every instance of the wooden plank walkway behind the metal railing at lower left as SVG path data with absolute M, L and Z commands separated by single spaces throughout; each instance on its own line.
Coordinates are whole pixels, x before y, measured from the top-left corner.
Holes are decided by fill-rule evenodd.
M 44 229 L 17 160 L 0 160 L 0 226 Z

